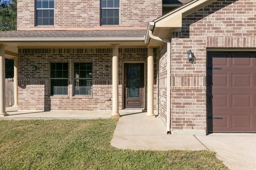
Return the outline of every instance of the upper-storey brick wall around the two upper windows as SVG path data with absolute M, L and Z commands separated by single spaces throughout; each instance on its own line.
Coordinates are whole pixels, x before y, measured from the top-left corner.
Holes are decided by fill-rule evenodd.
M 35 0 L 18 0 L 17 28 L 35 27 Z M 146 27 L 162 15 L 162 1 L 121 0 L 120 27 Z M 100 0 L 55 0 L 54 26 L 51 28 L 100 27 Z M 41 27 L 45 28 L 45 27 Z

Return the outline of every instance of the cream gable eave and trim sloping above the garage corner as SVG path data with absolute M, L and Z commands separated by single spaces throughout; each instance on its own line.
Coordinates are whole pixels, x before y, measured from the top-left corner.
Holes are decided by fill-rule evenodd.
M 202 9 L 209 4 L 212 4 L 215 1 L 217 0 L 194 0 L 185 5 L 182 5 L 181 7 L 176 8 L 169 13 L 166 13 L 165 15 L 160 16 L 152 22 L 149 22 L 145 37 L 145 43 L 150 43 L 149 30 L 151 30 L 153 34 L 154 31 L 157 32 L 158 35 L 161 31 L 165 32 L 163 38 L 167 38 L 167 36 L 169 36 L 172 31 L 175 31 L 182 27 L 182 18 Z

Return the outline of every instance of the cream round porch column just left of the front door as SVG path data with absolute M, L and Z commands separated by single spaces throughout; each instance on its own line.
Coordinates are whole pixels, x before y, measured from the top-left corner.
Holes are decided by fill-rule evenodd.
M 113 47 L 112 57 L 112 114 L 111 117 L 119 117 L 118 111 L 118 47 Z

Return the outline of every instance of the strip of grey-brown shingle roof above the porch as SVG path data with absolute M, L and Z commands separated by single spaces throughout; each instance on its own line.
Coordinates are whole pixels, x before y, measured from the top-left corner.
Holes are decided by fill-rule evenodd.
M 0 38 L 143 38 L 146 30 L 0 31 Z

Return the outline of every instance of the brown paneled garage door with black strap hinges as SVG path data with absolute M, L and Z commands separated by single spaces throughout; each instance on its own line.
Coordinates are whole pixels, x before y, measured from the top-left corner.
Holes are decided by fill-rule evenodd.
M 209 53 L 209 132 L 256 132 L 255 53 Z

